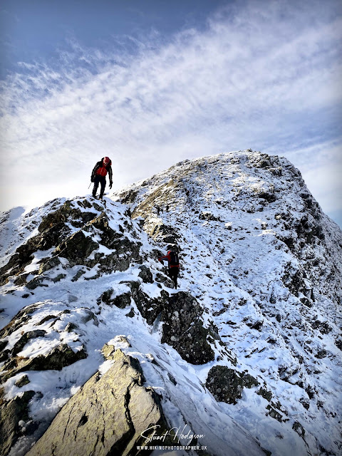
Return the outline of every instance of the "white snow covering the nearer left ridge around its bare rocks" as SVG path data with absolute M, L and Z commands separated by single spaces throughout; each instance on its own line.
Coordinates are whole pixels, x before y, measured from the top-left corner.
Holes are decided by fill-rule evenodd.
M 93 199 L 90 199 L 93 202 Z M 2 326 L 5 331 L 9 322 L 12 321 L 12 332 L 5 332 L 2 341 L 6 342 L 5 350 L 13 350 L 16 344 L 20 343 L 23 334 L 33 331 L 45 331 L 35 333 L 36 337 L 28 339 L 22 346 L 21 351 L 16 356 L 21 358 L 36 358 L 38 356 L 48 356 L 51 350 L 63 344 L 73 350 L 74 353 L 86 351 L 87 358 L 81 358 L 64 366 L 61 371 L 48 370 L 29 370 L 20 371 L 4 381 L 6 400 L 21 395 L 24 391 L 35 391 L 36 395 L 30 401 L 30 420 L 28 423 L 21 423 L 23 428 L 33 427 L 33 432 L 20 437 L 10 455 L 24 455 L 30 445 L 42 434 L 46 427 L 63 406 L 68 398 L 71 397 L 83 383 L 98 370 L 106 368 L 100 349 L 105 343 L 111 341 L 116 348 L 121 348 L 125 353 L 130 353 L 138 358 L 144 370 L 147 385 L 151 385 L 163 398 L 163 409 L 173 427 L 180 430 L 191 430 L 197 435 L 205 435 L 203 445 L 207 445 L 212 454 L 246 454 L 262 455 L 259 445 L 249 432 L 239 427 L 226 413 L 220 410 L 212 395 L 201 383 L 202 375 L 197 373 L 194 366 L 182 360 L 180 355 L 171 346 L 160 343 L 160 331 L 158 324 L 150 326 L 140 315 L 140 311 L 131 300 L 130 308 L 120 309 L 116 306 L 107 305 L 99 298 L 103 292 L 113 289 L 114 296 L 121 296 L 129 290 L 130 281 L 140 281 L 141 288 L 148 296 L 157 299 L 162 290 L 167 290 L 169 294 L 175 290 L 168 288 L 161 283 L 145 284 L 138 276 L 142 265 L 149 266 L 152 274 L 161 274 L 162 266 L 156 261 L 155 248 L 157 245 L 148 239 L 147 235 L 141 230 L 137 221 L 132 221 L 126 212 L 127 207 L 119 203 L 112 203 L 107 199 L 106 207 L 103 204 L 94 202 L 88 208 L 88 199 L 76 198 L 71 202 L 66 200 L 55 200 L 46 204 L 45 207 L 33 210 L 26 214 L 24 218 L 16 211 L 5 214 L 3 223 L 7 233 L 23 233 L 20 241 L 14 244 L 6 242 L 4 247 L 6 259 L 11 259 L 21 246 L 26 245 L 39 232 L 44 217 L 55 213 L 68 204 L 70 219 L 64 221 L 68 228 L 68 237 L 72 237 L 80 231 L 77 225 L 82 224 L 77 217 L 75 210 L 81 208 L 81 212 L 87 214 L 91 211 L 92 217 L 97 217 L 105 211 L 110 225 L 114 232 L 121 233 L 130 238 L 133 243 L 141 244 L 138 261 L 132 261 L 125 271 L 113 271 L 108 274 L 99 274 L 93 279 L 98 271 L 98 265 L 92 268 L 81 264 L 73 265 L 67 259 L 60 258 L 61 264 L 48 269 L 43 273 L 43 281 L 39 286 L 28 288 L 32 284 L 36 275 L 36 269 L 40 265 L 39 261 L 46 257 L 53 256 L 56 252 L 55 247 L 48 250 L 38 250 L 32 255 L 29 264 L 21 271 L 26 283 L 19 286 L 14 284 L 18 275 L 11 276 L 11 271 L 6 274 L 9 279 L 3 284 L 1 297 Z M 64 206 L 63 206 L 64 205 Z M 84 209 L 86 207 L 86 209 Z M 52 210 L 52 212 L 51 212 Z M 59 214 L 58 217 L 60 217 Z M 89 217 L 86 217 L 89 218 Z M 76 226 L 75 226 L 76 225 Z M 125 229 L 123 229 L 125 227 Z M 30 231 L 33 228 L 33 231 Z M 100 242 L 100 232 L 97 228 L 90 225 L 81 227 L 81 231 L 99 242 L 95 252 L 105 252 L 108 248 Z M 7 237 L 9 239 L 9 237 Z M 60 239 L 61 240 L 61 239 Z M 55 250 L 54 250 L 55 249 Z M 92 252 L 86 259 L 91 259 L 96 254 Z M 110 252 L 109 252 L 110 254 Z M 84 263 L 85 261 L 83 261 Z M 6 264 L 6 261 L 4 261 Z M 45 264 L 45 263 L 43 263 Z M 113 267 L 113 269 L 115 269 Z M 84 273 L 79 276 L 79 271 Z M 33 272 L 33 274 L 30 274 Z M 61 277 L 63 272 L 63 277 Z M 28 274 L 26 276 L 26 274 Z M 42 274 L 38 274 L 42 277 Z M 76 277 L 78 276 L 78 279 Z M 56 280 L 56 277 L 59 279 Z M 55 280 L 55 281 L 54 281 Z M 33 284 L 34 285 L 34 284 Z M 159 286 L 157 286 L 159 285 Z M 22 315 L 16 316 L 11 320 L 20 309 L 32 309 L 29 319 L 23 320 Z M 130 316 L 128 316 L 130 314 Z M 17 326 L 14 326 L 13 321 Z M 13 328 L 14 326 L 14 328 Z M 13 331 L 14 329 L 14 331 Z M 121 336 L 125 336 L 129 343 L 123 341 Z M 219 356 L 219 353 L 217 353 Z M 155 362 L 157 360 L 157 363 Z M 6 375 L 9 370 L 1 364 Z M 168 375 L 170 373 L 170 375 Z M 29 383 L 17 386 L 18 380 L 27 375 Z M 175 382 L 177 378 L 177 383 Z M 170 380 L 171 379 L 171 380 Z M 37 428 L 36 428 L 37 427 Z M 187 432 L 184 432 L 187 434 Z M 238 441 L 236 437 L 239 437 Z M 187 444 L 189 439 L 181 440 Z M 210 450 L 211 448 L 211 450 Z M 156 452 L 157 454 L 157 452 Z M 177 454 L 186 454 L 180 450 Z M 190 452 L 190 454 L 195 454 Z

